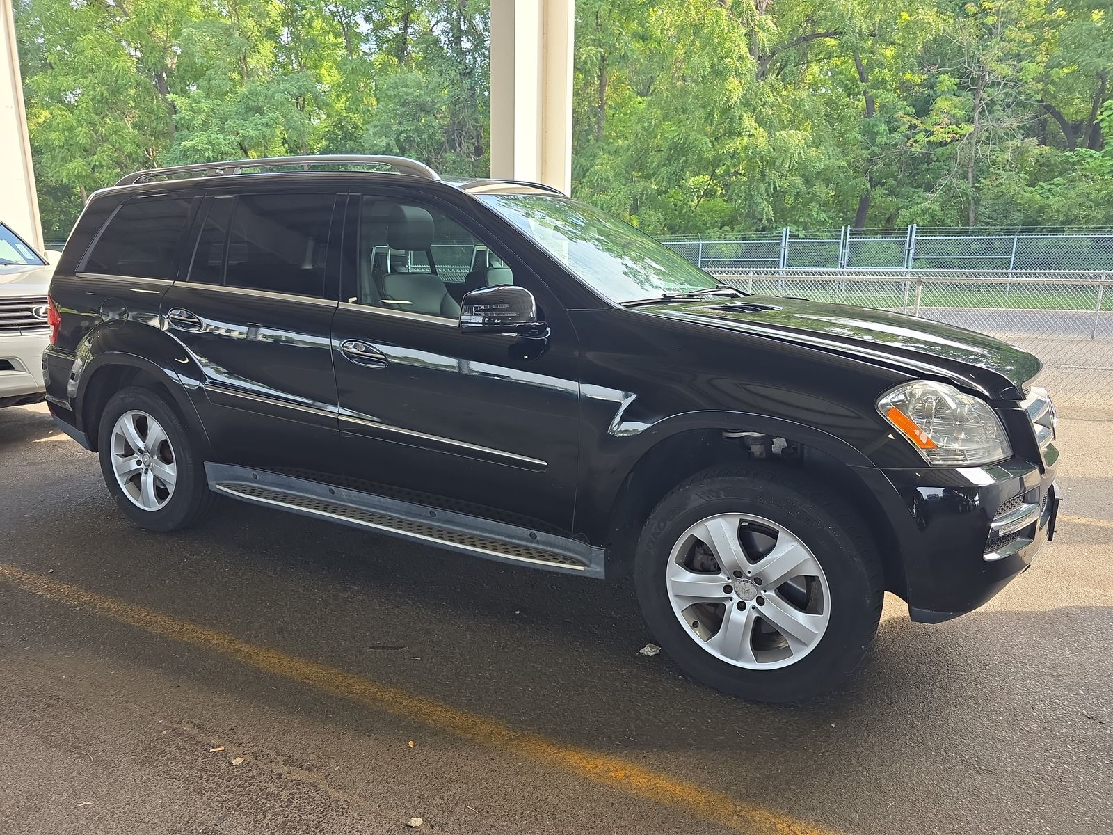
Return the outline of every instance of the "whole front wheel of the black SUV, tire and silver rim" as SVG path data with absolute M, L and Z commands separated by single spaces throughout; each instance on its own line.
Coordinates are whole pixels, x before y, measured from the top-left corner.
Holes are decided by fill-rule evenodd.
M 877 631 L 880 562 L 854 511 L 800 473 L 715 468 L 654 508 L 638 597 L 658 642 L 693 678 L 759 701 L 828 690 Z

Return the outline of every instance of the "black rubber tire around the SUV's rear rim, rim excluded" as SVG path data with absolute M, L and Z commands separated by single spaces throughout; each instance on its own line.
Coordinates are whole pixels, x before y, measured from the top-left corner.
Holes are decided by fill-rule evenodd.
M 166 432 L 173 449 L 177 480 L 169 500 L 158 510 L 144 510 L 125 494 L 112 469 L 111 434 L 126 412 L 138 410 L 154 418 Z M 105 405 L 98 433 L 100 472 L 117 507 L 140 528 L 173 531 L 200 521 L 216 504 L 217 495 L 208 489 L 203 453 L 166 396 L 150 389 L 121 389 Z

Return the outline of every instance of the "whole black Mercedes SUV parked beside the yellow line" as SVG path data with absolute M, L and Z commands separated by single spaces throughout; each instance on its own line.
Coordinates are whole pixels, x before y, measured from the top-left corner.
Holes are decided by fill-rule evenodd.
M 224 494 L 626 568 L 669 655 L 749 698 L 838 682 L 885 590 L 946 620 L 1054 532 L 1031 354 L 747 295 L 536 184 L 398 157 L 142 171 L 89 200 L 49 317 L 50 411 L 136 523 Z

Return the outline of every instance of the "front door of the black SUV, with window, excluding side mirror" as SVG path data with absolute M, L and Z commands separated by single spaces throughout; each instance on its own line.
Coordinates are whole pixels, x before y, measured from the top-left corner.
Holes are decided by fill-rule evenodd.
M 579 464 L 578 343 L 548 288 L 433 204 L 352 196 L 333 324 L 346 472 L 362 489 L 567 533 Z M 546 350 L 466 334 L 459 299 L 530 289 Z

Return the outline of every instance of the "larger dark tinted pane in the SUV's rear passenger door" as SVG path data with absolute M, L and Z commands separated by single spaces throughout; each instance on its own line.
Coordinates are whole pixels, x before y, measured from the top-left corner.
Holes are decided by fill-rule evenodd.
M 237 197 L 225 284 L 323 295 L 334 200 L 327 194 Z

